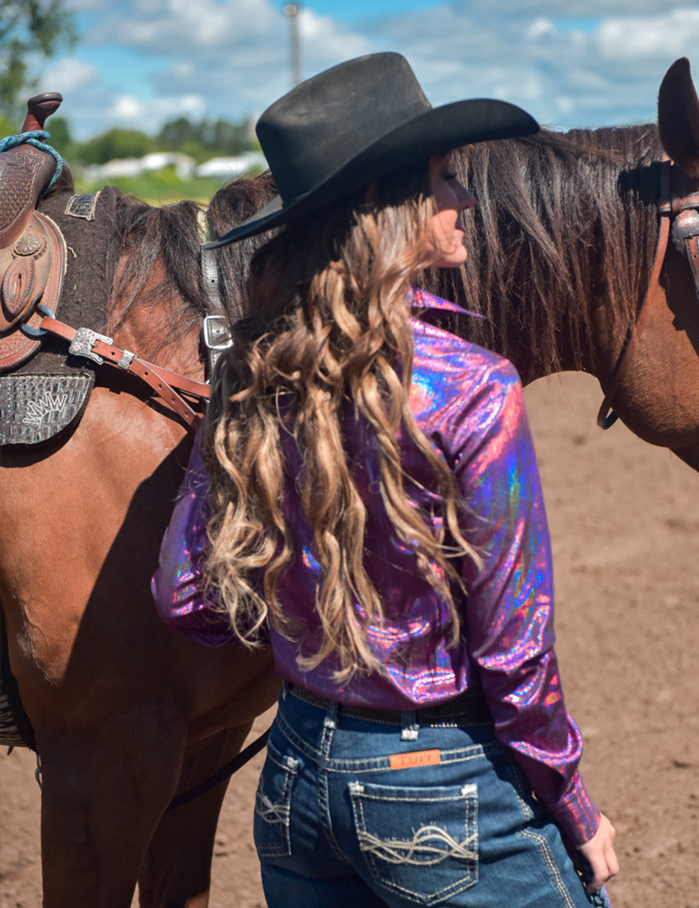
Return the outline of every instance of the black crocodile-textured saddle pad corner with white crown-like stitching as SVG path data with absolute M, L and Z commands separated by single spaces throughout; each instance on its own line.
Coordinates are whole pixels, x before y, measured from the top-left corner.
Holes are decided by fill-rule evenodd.
M 94 373 L 0 376 L 0 445 L 36 445 L 70 429 L 83 414 Z

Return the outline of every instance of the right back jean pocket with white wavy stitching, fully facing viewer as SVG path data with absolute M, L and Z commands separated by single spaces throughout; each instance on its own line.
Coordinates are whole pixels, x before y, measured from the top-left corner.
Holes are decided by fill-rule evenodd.
M 375 883 L 438 905 L 477 883 L 477 786 L 350 782 L 359 849 Z

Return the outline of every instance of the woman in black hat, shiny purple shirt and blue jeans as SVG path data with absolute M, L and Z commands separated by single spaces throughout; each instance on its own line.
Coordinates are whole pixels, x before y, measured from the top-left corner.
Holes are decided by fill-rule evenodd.
M 212 244 L 286 225 L 251 264 L 153 589 L 202 643 L 271 642 L 271 908 L 576 908 L 617 870 L 560 688 L 517 374 L 412 288 L 466 254 L 449 149 L 536 130 L 501 102 L 432 108 L 398 54 L 341 64 L 262 114 L 280 196 Z

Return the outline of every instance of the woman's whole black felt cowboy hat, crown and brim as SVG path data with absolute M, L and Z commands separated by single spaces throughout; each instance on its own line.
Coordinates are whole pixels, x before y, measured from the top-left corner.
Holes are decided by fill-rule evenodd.
M 256 132 L 279 195 L 215 249 L 334 202 L 372 180 L 459 145 L 537 133 L 514 104 L 477 98 L 432 107 L 400 54 L 369 54 L 293 88 Z

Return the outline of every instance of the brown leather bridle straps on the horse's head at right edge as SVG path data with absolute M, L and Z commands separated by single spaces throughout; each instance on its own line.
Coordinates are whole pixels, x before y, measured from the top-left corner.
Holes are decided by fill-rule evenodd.
M 673 182 L 677 186 L 676 193 L 672 191 Z M 692 188 L 696 189 L 696 187 Z M 658 281 L 660 281 L 667 243 L 671 236 L 677 251 L 683 252 L 689 262 L 694 287 L 699 298 L 699 192 L 690 192 L 689 189 L 684 174 L 676 164 L 665 157 L 660 164 L 660 194 L 657 202 L 660 223 L 653 269 L 635 322 L 626 337 L 619 358 L 616 360 L 615 369 L 605 393 L 605 400 L 602 401 L 602 406 L 597 413 L 597 425 L 600 429 L 609 429 L 617 419 L 612 405 L 622 381 L 625 379 L 632 354 L 644 329 L 648 301 L 655 293 Z

